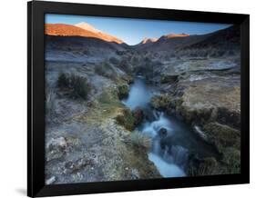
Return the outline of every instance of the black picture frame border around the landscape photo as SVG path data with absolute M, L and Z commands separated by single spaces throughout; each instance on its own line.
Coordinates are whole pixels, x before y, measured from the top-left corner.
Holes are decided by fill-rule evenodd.
M 45 14 L 117 16 L 241 25 L 241 173 L 138 181 L 45 184 Z M 32 1 L 27 4 L 27 195 L 53 196 L 250 182 L 250 15 Z

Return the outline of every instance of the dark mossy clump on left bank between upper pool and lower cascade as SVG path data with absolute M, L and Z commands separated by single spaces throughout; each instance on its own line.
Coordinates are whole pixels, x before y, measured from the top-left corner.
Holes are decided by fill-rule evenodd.
M 135 128 L 135 118 L 128 109 L 122 109 L 116 117 L 117 123 L 124 126 L 128 131 Z

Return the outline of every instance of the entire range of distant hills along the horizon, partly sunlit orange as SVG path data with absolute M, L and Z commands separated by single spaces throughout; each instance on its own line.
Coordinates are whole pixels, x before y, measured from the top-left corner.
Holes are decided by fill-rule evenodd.
M 159 38 L 145 38 L 138 45 L 127 45 L 113 35 L 108 35 L 87 23 L 77 25 L 46 24 L 47 47 L 76 50 L 87 48 L 93 54 L 102 54 L 107 49 L 113 54 L 118 51 L 135 50 L 139 53 L 152 52 L 165 57 L 215 56 L 240 53 L 240 27 L 232 25 L 207 35 L 169 34 Z M 72 38 L 71 38 L 72 37 Z M 80 48 L 83 47 L 83 48 Z

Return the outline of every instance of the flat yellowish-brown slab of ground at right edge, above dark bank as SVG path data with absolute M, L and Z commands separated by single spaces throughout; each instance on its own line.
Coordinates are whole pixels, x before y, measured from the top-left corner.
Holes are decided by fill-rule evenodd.
M 198 72 L 198 74 L 200 74 Z M 240 76 L 225 77 L 203 73 L 201 80 L 189 81 L 189 73 L 177 84 L 174 100 L 176 114 L 189 124 L 218 122 L 240 128 Z

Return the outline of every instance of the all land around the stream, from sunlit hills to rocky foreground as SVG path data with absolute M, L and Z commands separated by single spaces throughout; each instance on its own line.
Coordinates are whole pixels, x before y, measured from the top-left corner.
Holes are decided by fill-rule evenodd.
M 129 46 L 87 24 L 46 25 L 46 183 L 162 177 L 148 159 L 150 138 L 137 132 L 147 112 L 122 103 L 137 75 L 159 90 L 152 109 L 216 151 L 189 153 L 187 175 L 240 173 L 239 38 L 230 26 Z

